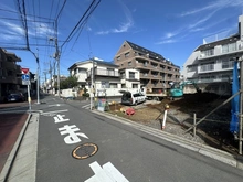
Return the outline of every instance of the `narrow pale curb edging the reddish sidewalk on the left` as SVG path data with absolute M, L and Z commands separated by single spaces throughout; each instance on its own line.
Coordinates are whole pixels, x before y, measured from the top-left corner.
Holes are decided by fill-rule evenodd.
M 17 157 L 18 150 L 20 148 L 20 143 L 21 143 L 22 139 L 23 139 L 24 132 L 27 130 L 27 127 L 28 127 L 28 124 L 29 124 L 31 117 L 32 117 L 32 114 L 29 114 L 29 116 L 28 116 L 28 118 L 27 118 L 27 120 L 24 122 L 24 126 L 21 129 L 20 135 L 19 135 L 19 137 L 18 137 L 18 139 L 17 139 L 17 141 L 15 141 L 15 143 L 14 143 L 14 146 L 13 146 L 9 157 L 8 157 L 8 159 L 7 159 L 7 162 L 6 162 L 1 173 L 0 173 L 0 182 L 6 182 L 8 176 L 9 176 L 9 173 L 11 171 L 12 164 L 13 164 L 14 159 Z

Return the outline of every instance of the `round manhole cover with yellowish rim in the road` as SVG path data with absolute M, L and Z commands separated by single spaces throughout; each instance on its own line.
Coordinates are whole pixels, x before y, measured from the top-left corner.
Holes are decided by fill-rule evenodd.
M 72 156 L 75 159 L 87 159 L 94 156 L 97 151 L 98 151 L 98 146 L 94 143 L 84 143 L 84 144 L 77 146 L 73 150 Z

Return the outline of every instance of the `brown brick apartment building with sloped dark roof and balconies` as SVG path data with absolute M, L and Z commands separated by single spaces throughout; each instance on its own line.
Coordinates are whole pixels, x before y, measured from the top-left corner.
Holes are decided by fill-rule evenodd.
M 162 55 L 129 41 L 125 41 L 114 57 L 119 71 L 139 71 L 139 82 L 147 92 L 158 93 L 170 88 L 169 83 L 180 81 L 180 67 Z M 131 74 L 133 77 L 133 74 Z

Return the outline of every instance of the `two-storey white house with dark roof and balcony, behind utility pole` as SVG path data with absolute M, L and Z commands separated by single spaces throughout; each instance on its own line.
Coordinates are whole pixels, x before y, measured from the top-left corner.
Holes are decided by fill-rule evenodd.
M 114 63 L 99 61 L 97 58 L 87 60 L 74 63 L 68 71 L 71 75 L 77 76 L 78 87 L 86 87 L 91 96 L 122 96 L 120 74 L 118 66 Z

